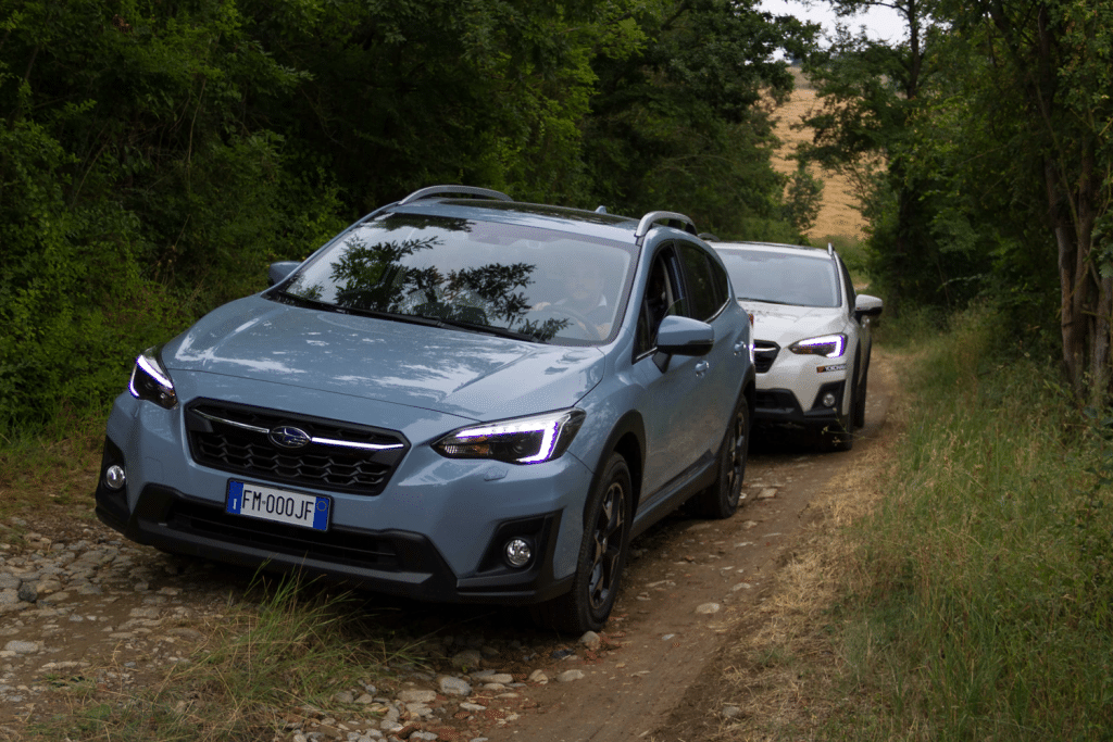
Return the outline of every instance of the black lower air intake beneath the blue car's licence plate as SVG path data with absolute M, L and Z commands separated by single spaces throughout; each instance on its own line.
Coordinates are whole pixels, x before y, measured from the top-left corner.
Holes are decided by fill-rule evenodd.
M 229 515 L 215 507 L 177 501 L 166 516 L 178 533 L 216 538 L 228 544 L 265 548 L 276 554 L 314 558 L 376 570 L 397 571 L 403 564 L 391 538 L 333 528 L 327 533 Z

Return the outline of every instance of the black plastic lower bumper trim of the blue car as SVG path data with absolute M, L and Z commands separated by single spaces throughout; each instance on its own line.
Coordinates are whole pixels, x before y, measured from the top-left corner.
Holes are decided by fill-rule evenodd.
M 114 463 L 122 466 L 124 459 L 108 442 L 101 482 L 104 468 Z M 552 576 L 560 513 L 500 524 L 476 572 L 456 575 L 432 542 L 417 533 L 337 526 L 317 532 L 255 521 L 160 485 L 145 487 L 130 513 L 126 489 L 112 492 L 101 484 L 96 499 L 97 517 L 140 544 L 248 568 L 337 580 L 414 600 L 530 604 L 571 586 L 571 577 Z M 505 541 L 514 536 L 534 544 L 535 557 L 524 568 L 501 561 Z

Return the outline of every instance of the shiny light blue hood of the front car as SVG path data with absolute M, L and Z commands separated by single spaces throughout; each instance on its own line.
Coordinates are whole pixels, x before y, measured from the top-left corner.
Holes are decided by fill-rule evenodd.
M 255 296 L 203 317 L 162 363 L 171 378 L 217 374 L 490 421 L 571 407 L 599 383 L 604 356 Z

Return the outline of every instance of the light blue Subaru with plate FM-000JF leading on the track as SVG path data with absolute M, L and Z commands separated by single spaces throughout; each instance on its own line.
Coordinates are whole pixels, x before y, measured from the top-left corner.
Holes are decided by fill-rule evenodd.
M 144 352 L 97 515 L 162 551 L 598 630 L 631 537 L 738 507 L 750 323 L 687 217 L 435 186 Z

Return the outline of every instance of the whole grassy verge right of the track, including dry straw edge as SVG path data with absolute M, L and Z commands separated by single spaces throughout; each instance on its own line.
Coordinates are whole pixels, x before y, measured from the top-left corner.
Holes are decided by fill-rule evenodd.
M 725 679 L 769 711 L 713 739 L 1111 739 L 1113 419 L 996 326 L 889 328 L 918 335 L 886 349 L 907 393 L 888 453 L 812 504 L 814 547 Z

